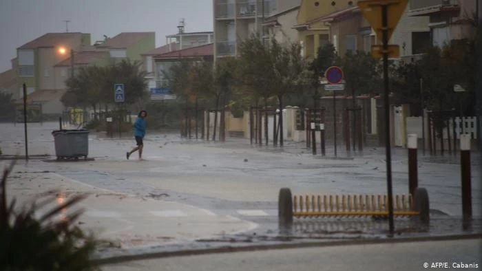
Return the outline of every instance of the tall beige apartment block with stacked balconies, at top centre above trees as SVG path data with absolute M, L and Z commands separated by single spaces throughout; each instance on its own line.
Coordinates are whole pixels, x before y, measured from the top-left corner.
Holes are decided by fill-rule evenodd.
M 213 0 L 214 61 L 238 54 L 238 42 L 251 34 L 264 36 L 262 23 L 300 0 Z

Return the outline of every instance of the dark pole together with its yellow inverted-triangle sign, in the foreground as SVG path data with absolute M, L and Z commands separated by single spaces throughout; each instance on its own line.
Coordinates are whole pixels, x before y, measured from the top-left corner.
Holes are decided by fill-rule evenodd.
M 384 66 L 384 105 L 385 105 L 385 151 L 386 151 L 386 181 L 388 191 L 388 223 L 390 236 L 393 236 L 393 199 L 392 199 L 392 158 L 390 147 L 390 85 L 388 82 L 388 41 L 392 36 L 401 14 L 404 13 L 408 0 L 366 0 L 359 1 L 358 6 L 362 10 L 365 19 L 377 33 L 382 41 L 381 54 Z

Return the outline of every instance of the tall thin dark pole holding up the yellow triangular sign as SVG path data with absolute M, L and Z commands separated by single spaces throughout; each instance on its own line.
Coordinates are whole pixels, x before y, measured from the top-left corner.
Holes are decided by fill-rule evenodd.
M 390 147 L 390 85 L 388 83 L 388 4 L 381 4 L 381 25 L 384 55 L 384 103 L 385 103 L 385 152 L 386 182 L 388 191 L 388 224 L 390 236 L 393 236 L 393 199 L 392 199 L 392 154 Z

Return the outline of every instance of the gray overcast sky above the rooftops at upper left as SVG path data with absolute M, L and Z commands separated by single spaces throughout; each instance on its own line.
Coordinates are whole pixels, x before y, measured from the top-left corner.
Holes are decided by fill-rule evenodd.
M 186 31 L 213 31 L 212 0 L 0 0 L 0 72 L 10 69 L 17 47 L 48 32 L 90 33 L 92 43 L 120 32 L 156 32 L 156 47 Z

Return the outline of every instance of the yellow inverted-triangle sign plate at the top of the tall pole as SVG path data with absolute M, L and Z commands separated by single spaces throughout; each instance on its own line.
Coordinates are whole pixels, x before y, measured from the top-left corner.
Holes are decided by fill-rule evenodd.
M 401 14 L 404 14 L 408 0 L 365 0 L 358 1 L 358 7 L 362 11 L 366 21 L 377 33 L 378 39 L 382 39 L 381 6 L 388 5 L 388 40 L 392 36 L 393 30 L 400 21 Z

